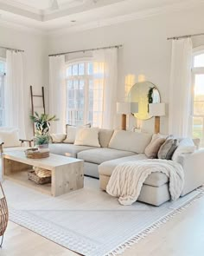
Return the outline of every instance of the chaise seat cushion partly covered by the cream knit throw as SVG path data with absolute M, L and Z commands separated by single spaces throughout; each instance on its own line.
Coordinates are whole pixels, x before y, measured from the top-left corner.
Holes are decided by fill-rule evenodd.
M 112 171 L 114 170 L 115 167 L 118 166 L 118 164 L 121 164 L 125 161 L 138 161 L 138 160 L 145 160 L 148 159 L 145 154 L 136 154 L 128 157 L 123 157 L 119 159 L 115 159 L 112 161 L 105 161 L 104 163 L 99 165 L 99 175 L 106 175 L 106 176 L 111 176 Z M 150 185 L 153 187 L 160 187 L 163 186 L 163 184 L 166 184 L 169 182 L 169 178 L 167 177 L 166 174 L 162 173 L 153 173 L 150 174 L 146 181 L 144 181 L 144 184 Z

